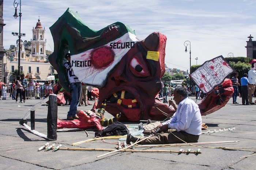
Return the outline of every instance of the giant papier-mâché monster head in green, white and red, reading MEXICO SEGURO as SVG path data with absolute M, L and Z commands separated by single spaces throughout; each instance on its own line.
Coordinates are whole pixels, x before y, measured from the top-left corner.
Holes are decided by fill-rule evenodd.
M 119 22 L 95 31 L 69 9 L 50 30 L 54 52 L 49 61 L 65 90 L 70 89 L 64 56 L 70 51 L 74 74 L 98 87 L 99 106 L 106 100 L 106 110 L 113 115 L 121 112 L 121 120 L 164 119 L 157 106 L 173 112 L 155 101 L 165 72 L 165 35 L 155 32 L 139 41 L 129 26 Z

